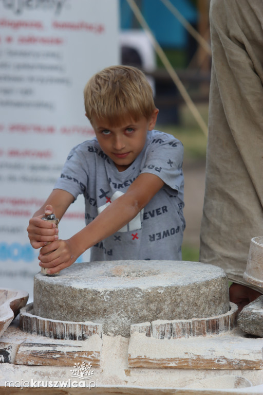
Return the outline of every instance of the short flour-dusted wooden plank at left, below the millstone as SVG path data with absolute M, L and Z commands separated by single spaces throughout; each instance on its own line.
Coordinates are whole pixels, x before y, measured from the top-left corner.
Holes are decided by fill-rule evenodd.
M 90 363 L 100 366 L 102 339 L 93 335 L 78 340 L 26 340 L 16 353 L 15 365 L 72 366 L 74 363 Z

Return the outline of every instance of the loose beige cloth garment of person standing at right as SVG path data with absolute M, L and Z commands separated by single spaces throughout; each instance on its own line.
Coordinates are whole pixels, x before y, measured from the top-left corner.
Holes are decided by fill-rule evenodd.
M 200 261 L 263 293 L 243 280 L 250 240 L 263 236 L 263 1 L 211 0 L 210 23 Z

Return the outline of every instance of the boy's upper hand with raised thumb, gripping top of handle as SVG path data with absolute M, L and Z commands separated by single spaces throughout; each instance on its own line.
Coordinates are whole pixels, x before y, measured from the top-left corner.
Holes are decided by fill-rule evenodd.
M 39 216 L 31 218 L 27 227 L 28 237 L 33 248 L 40 248 L 47 245 L 48 242 L 57 240 L 58 229 L 55 224 L 44 221 L 42 218 L 44 215 L 54 213 L 53 207 L 49 204 L 45 207 L 45 213 Z

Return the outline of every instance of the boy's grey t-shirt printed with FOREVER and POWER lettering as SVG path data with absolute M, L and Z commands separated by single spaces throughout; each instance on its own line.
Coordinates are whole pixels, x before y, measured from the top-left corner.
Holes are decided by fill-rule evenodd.
M 86 225 L 124 194 L 141 173 L 155 174 L 164 182 L 132 221 L 91 247 L 91 261 L 181 260 L 185 228 L 182 160 L 182 143 L 170 134 L 155 130 L 148 131 L 143 150 L 122 172 L 101 150 L 96 138 L 70 151 L 54 189 L 63 189 L 75 199 L 84 194 Z

